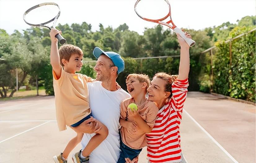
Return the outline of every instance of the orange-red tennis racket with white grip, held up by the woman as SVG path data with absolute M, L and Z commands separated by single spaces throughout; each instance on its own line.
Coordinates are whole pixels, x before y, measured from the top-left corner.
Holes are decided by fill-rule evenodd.
M 192 47 L 196 43 L 194 40 L 186 37 L 184 32 L 174 25 L 171 18 L 170 3 L 167 0 L 137 0 L 134 5 L 134 10 L 136 14 L 143 20 L 159 23 L 170 27 L 174 30 L 175 33 L 178 33 L 190 47 Z M 170 20 L 164 22 L 164 20 L 166 20 L 167 18 L 169 18 Z

